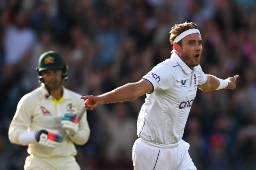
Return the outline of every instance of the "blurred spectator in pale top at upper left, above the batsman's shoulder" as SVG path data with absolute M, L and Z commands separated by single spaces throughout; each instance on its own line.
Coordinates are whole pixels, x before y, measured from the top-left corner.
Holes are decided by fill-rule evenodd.
M 27 13 L 18 9 L 13 12 L 13 17 L 14 22 L 7 26 L 3 42 L 6 80 L 10 80 L 29 63 L 31 57 L 29 52 L 36 41 L 35 31 L 28 28 Z

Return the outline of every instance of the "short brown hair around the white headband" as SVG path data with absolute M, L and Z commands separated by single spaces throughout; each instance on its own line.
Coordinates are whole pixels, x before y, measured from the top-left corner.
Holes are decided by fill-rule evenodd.
M 170 35 L 170 42 L 171 44 L 173 44 L 174 42 L 174 39 L 180 35 L 182 32 L 184 31 L 187 31 L 189 29 L 192 29 L 192 28 L 196 28 L 196 29 L 199 29 L 197 24 L 193 23 L 193 22 L 184 22 L 182 24 L 175 24 L 172 28 L 171 28 L 171 35 Z M 181 41 L 178 42 L 179 45 L 182 46 L 181 44 Z

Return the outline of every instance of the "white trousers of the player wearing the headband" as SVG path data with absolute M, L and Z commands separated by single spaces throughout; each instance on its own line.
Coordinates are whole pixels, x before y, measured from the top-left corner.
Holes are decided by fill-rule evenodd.
M 141 138 L 132 147 L 134 170 L 196 170 L 188 154 L 189 144 L 160 145 Z

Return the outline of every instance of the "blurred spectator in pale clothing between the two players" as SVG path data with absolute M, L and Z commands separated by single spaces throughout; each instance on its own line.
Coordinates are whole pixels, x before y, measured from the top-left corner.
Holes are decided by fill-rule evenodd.
M 128 115 L 125 103 L 115 103 L 113 111 L 104 106 L 97 111 L 97 116 L 106 124 L 107 140 L 104 149 L 105 160 L 108 163 L 132 165 L 132 146 L 137 138 L 136 123 Z M 120 161 L 119 159 L 122 158 Z M 119 161 L 118 161 L 119 160 Z

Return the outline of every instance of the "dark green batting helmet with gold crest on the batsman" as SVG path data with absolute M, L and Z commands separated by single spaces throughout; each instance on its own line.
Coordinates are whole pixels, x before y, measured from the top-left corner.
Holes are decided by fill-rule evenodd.
M 41 72 L 50 69 L 63 69 L 63 80 L 68 80 L 68 66 L 63 57 L 55 51 L 44 52 L 39 57 L 38 67 L 36 68 L 39 75 L 39 83 L 44 83 Z

